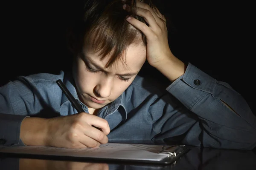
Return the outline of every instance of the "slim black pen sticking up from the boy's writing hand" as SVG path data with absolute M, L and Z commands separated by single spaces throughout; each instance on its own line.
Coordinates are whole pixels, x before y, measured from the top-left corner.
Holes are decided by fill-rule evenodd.
M 80 112 L 84 112 L 84 109 L 80 106 L 80 104 L 78 103 L 78 101 L 76 101 L 76 99 L 74 98 L 74 96 L 70 93 L 70 91 L 67 89 L 67 87 L 64 85 L 64 83 L 61 81 L 61 79 L 57 80 L 56 83 L 58 84 L 58 86 L 60 86 L 62 92 L 64 92 L 64 94 L 67 96 L 68 100 L 71 102 L 71 104 L 73 105 L 73 107 L 75 107 L 75 109 L 80 113 Z

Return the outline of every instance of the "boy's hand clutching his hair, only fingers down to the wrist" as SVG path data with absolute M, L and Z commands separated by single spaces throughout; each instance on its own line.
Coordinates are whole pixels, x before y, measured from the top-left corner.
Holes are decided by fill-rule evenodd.
M 125 10 L 130 9 L 128 5 L 124 5 L 123 8 Z M 166 18 L 158 9 L 156 10 L 154 12 L 148 4 L 137 0 L 137 15 L 143 17 L 149 26 L 134 17 L 127 18 L 131 25 L 140 29 L 145 35 L 147 40 L 147 60 L 154 67 L 166 58 L 173 56 L 168 43 Z

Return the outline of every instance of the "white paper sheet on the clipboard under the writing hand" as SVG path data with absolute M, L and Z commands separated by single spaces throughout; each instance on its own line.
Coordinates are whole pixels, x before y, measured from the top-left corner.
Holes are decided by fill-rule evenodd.
M 161 161 L 169 155 L 159 153 L 162 145 L 107 143 L 97 148 L 67 149 L 58 147 L 4 147 L 2 153 L 23 153 L 81 158 L 106 158 L 119 160 Z M 167 146 L 168 147 L 168 146 Z

